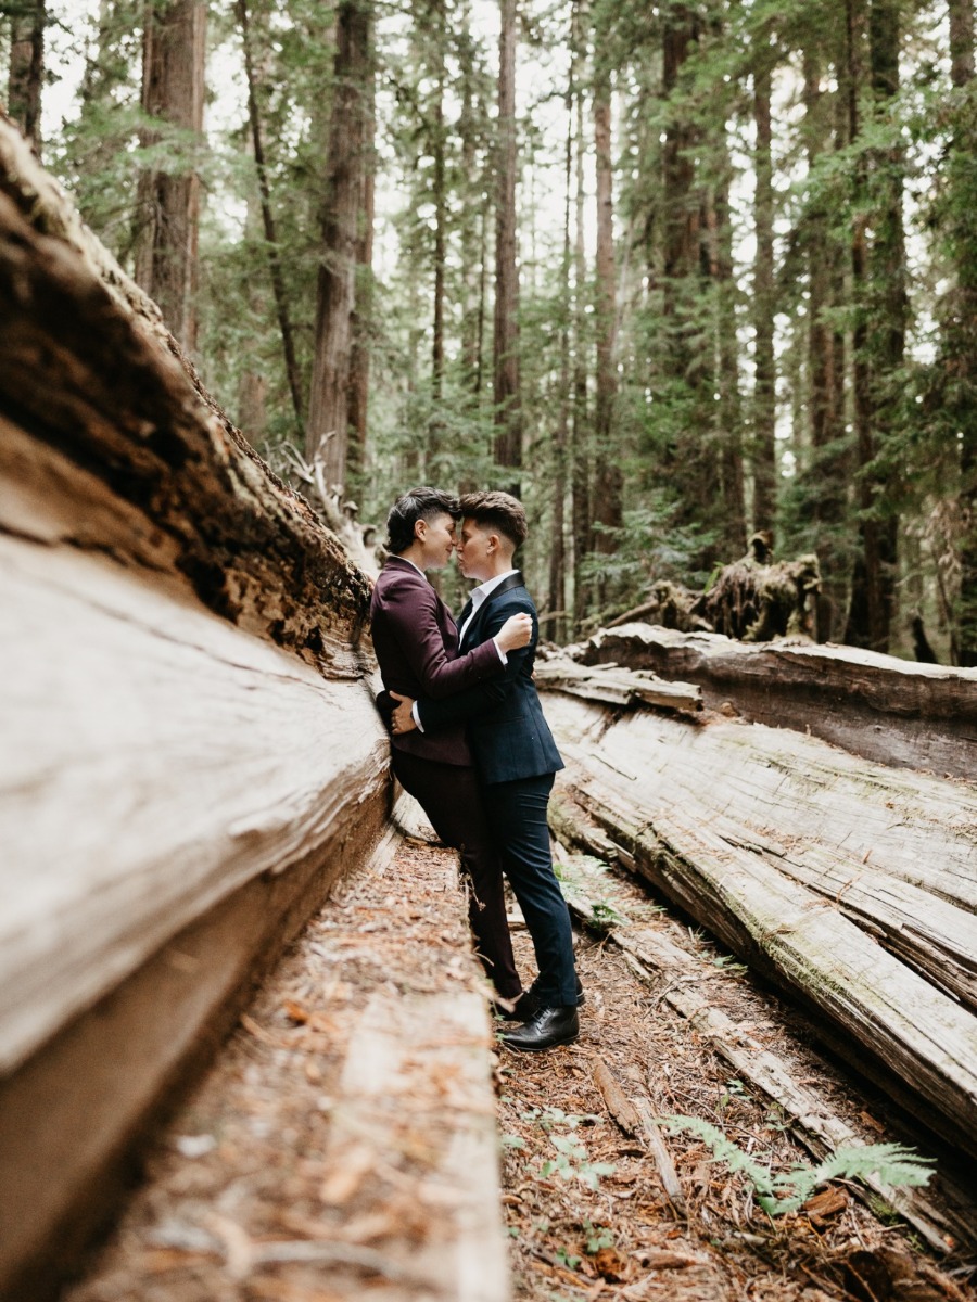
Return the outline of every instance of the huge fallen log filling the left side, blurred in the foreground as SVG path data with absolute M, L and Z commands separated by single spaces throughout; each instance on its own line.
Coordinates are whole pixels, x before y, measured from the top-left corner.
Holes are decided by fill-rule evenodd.
M 0 120 L 5 1299 L 380 841 L 367 598 Z

